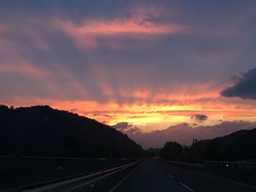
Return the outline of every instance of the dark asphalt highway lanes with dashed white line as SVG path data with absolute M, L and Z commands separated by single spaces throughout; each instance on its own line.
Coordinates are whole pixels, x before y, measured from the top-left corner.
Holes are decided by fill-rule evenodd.
M 256 187 L 225 180 L 211 174 L 146 159 L 119 181 L 109 192 L 202 191 L 251 192 Z

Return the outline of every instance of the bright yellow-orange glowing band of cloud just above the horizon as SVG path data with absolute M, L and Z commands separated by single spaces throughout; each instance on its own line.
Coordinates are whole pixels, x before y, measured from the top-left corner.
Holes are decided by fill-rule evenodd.
M 151 93 L 140 93 L 139 91 L 131 94 L 136 97 L 147 97 L 151 95 Z M 201 96 L 203 98 L 204 95 Z M 221 98 L 211 99 L 209 101 L 193 100 L 189 99 L 189 96 L 186 96 L 186 98 L 187 101 L 185 102 L 176 101 L 170 103 L 165 101 L 163 103 L 145 101 L 143 103 L 135 99 L 135 101 L 123 102 L 122 104 L 118 104 L 116 101 L 102 103 L 90 99 L 60 101 L 53 99 L 17 98 L 17 101 L 19 105 L 22 102 L 25 105 L 49 104 L 51 107 L 69 111 L 75 108 L 75 112 L 78 112 L 78 114 L 89 118 L 96 118 L 99 122 L 109 125 L 119 122 L 129 122 L 135 126 L 139 126 L 143 131 L 162 129 L 176 123 L 192 123 L 190 118 L 195 114 L 207 115 L 208 120 L 204 125 L 208 126 L 219 123 L 219 120 L 256 120 L 256 110 L 252 109 L 252 104 L 248 103 L 249 101 L 244 101 L 245 103 L 241 106 L 239 104 L 228 103 Z M 196 98 L 199 98 L 199 95 Z M 27 100 L 30 100 L 30 103 Z

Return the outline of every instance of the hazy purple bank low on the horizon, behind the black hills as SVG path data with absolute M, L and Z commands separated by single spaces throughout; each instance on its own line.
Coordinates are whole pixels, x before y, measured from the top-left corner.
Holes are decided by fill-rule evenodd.
M 123 123 L 125 126 L 125 123 Z M 176 141 L 181 145 L 192 145 L 193 139 L 214 139 L 231 134 L 241 129 L 252 129 L 256 127 L 256 122 L 243 120 L 222 121 L 212 126 L 192 127 L 189 123 L 178 123 L 161 130 L 143 132 L 136 126 L 129 125 L 128 128 L 118 128 L 127 134 L 135 142 L 140 143 L 144 149 L 150 147 L 162 147 L 167 141 Z

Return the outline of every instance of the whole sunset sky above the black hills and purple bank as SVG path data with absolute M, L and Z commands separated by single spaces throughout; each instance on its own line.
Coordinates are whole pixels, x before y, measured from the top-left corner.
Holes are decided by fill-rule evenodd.
M 50 105 L 143 133 L 254 122 L 255 7 L 2 0 L 0 103 Z

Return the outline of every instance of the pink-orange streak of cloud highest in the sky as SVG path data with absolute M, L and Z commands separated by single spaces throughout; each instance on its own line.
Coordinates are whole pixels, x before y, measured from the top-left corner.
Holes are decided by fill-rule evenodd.
M 156 9 L 136 9 L 131 11 L 130 18 L 119 17 L 113 19 L 85 20 L 76 25 L 70 20 L 56 20 L 56 26 L 75 40 L 78 47 L 83 50 L 94 50 L 98 46 L 98 37 L 132 37 L 145 39 L 148 36 L 162 34 L 176 34 L 185 30 L 184 26 L 176 23 L 157 23 L 150 20 L 157 17 Z M 110 47 L 120 47 L 114 42 L 108 42 Z

